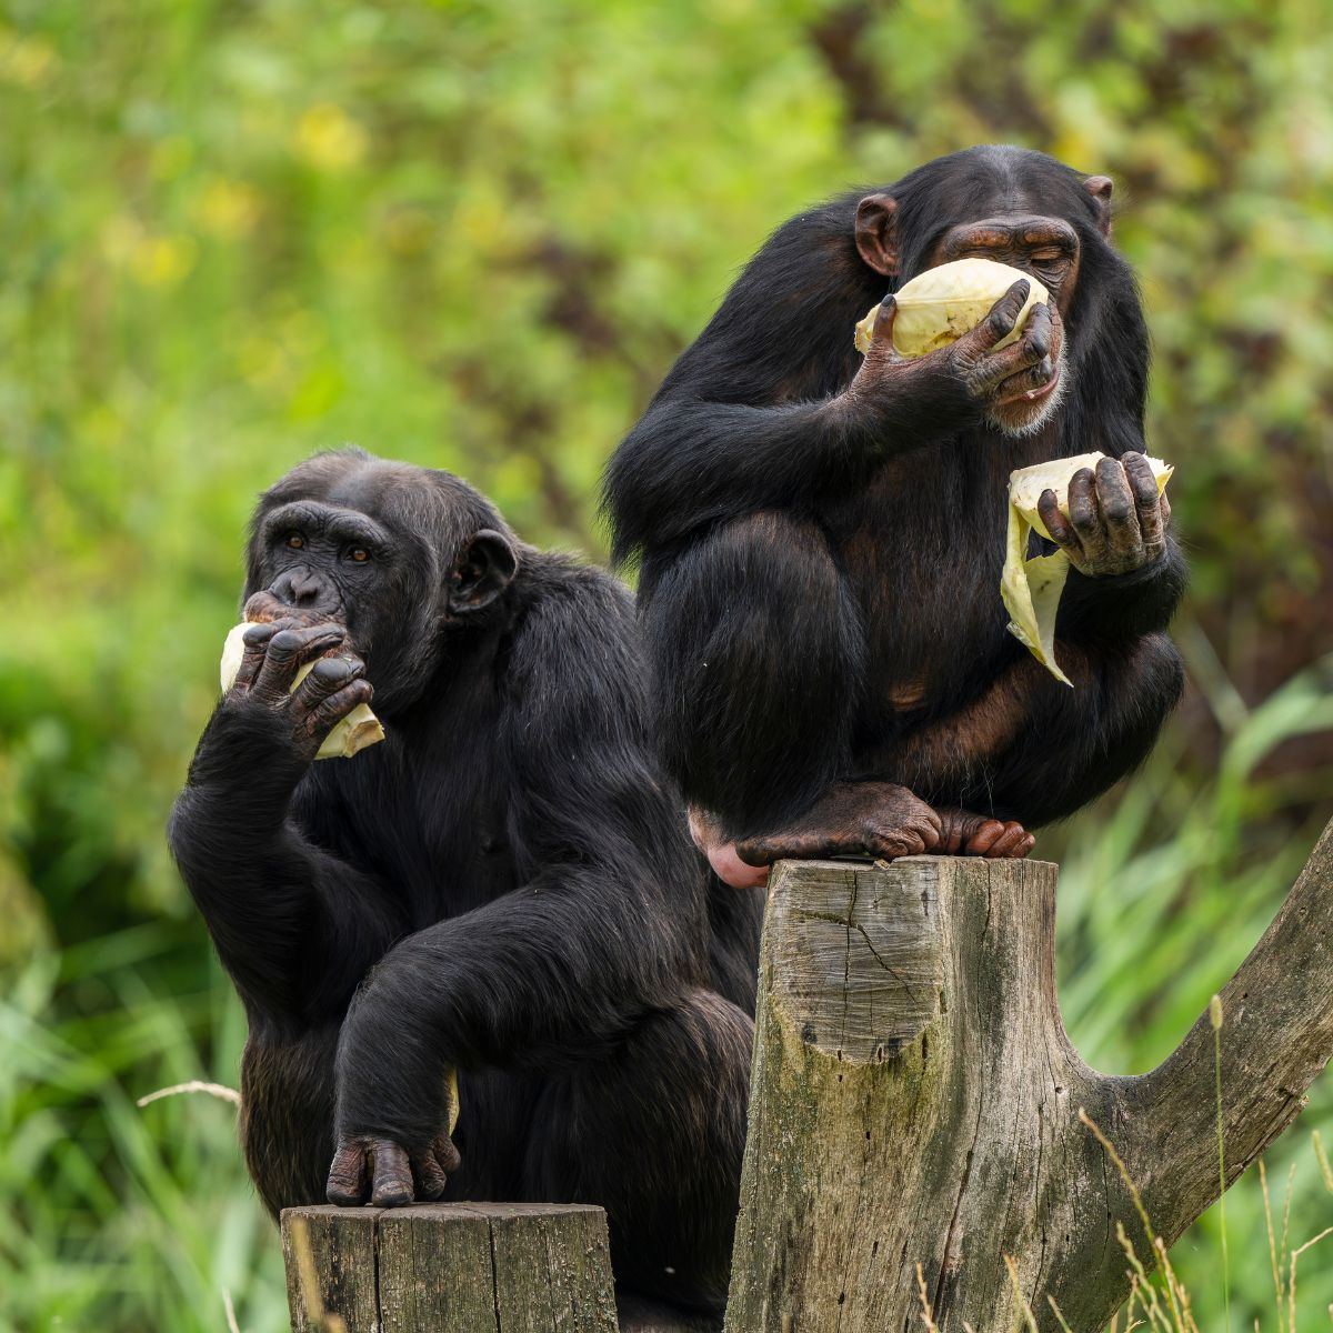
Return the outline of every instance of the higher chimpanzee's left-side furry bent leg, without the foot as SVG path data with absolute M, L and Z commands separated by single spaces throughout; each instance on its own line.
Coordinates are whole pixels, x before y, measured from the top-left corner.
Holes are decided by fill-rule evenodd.
M 645 567 L 639 601 L 657 736 L 689 804 L 729 837 L 805 810 L 845 764 L 864 656 L 820 528 L 770 512 L 721 524 Z

